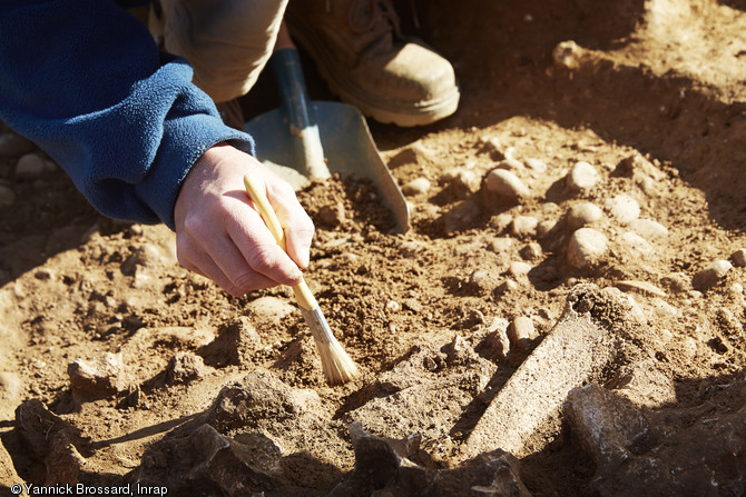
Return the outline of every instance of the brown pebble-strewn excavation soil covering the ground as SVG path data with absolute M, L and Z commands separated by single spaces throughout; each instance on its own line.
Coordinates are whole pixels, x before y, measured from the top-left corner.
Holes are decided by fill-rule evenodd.
M 399 183 L 429 181 L 405 188 L 409 231 L 392 231 L 359 180 L 298 192 L 316 223 L 308 284 L 362 371 L 350 384 L 324 381 L 288 289 L 228 296 L 178 266 L 164 226 L 100 217 L 59 168 L 19 176 L 18 158 L 0 158 L 14 191 L 0 212 L 0 494 L 20 480 L 171 495 L 746 493 L 746 3 L 421 7 L 420 34 L 453 62 L 462 101 L 425 128 L 371 123 Z M 568 179 L 581 161 L 589 186 Z M 495 168 L 527 191 L 495 192 Z M 607 246 L 580 264 L 572 209 L 587 202 Z M 510 491 L 478 481 L 470 433 L 586 284 L 628 309 L 590 312 L 616 352 L 577 386 L 602 386 L 611 411 L 655 436 L 583 435 L 573 390 L 511 451 Z M 440 479 L 405 489 L 401 468 L 379 468 L 361 484 L 360 430 L 391 447 L 416 437 L 406 457 Z M 630 463 L 642 456 L 670 474 Z

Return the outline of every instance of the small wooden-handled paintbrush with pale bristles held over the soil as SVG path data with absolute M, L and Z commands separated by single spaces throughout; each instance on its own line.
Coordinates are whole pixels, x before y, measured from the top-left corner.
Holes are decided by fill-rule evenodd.
M 248 197 L 254 201 L 264 223 L 275 237 L 277 245 L 286 251 L 285 233 L 275 210 L 269 205 L 266 195 L 251 177 L 244 176 L 244 185 Z M 301 312 L 305 318 L 311 334 L 316 341 L 316 349 L 321 356 L 321 365 L 324 370 L 324 376 L 330 385 L 338 385 L 350 381 L 357 376 L 357 366 L 344 351 L 340 342 L 332 335 L 332 330 L 324 318 L 324 315 L 318 307 L 318 302 L 308 289 L 304 279 L 293 287 L 295 300 L 301 307 Z

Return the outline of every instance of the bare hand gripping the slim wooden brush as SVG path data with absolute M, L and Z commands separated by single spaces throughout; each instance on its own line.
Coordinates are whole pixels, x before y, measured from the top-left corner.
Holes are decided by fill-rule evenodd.
M 244 175 L 266 186 L 267 199 L 285 228 L 287 254 L 249 201 Z M 296 285 L 301 268 L 308 266 L 314 226 L 293 188 L 229 145 L 216 145 L 195 162 L 181 185 L 174 216 L 179 264 L 230 295 Z

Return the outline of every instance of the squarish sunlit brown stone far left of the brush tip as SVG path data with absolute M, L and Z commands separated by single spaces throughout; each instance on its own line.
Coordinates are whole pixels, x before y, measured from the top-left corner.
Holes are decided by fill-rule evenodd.
M 68 364 L 67 372 L 72 395 L 81 401 L 108 397 L 127 386 L 121 352 L 106 352 L 94 360 L 76 359 Z

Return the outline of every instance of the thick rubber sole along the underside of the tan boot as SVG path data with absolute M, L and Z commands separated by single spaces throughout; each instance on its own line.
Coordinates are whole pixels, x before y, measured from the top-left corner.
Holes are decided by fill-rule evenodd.
M 318 39 L 304 29 L 294 16 L 286 13 L 287 27 L 291 36 L 311 54 L 316 62 L 318 72 L 326 81 L 330 90 L 344 102 L 351 103 L 360 109 L 363 115 L 375 119 L 384 125 L 396 125 L 403 128 L 431 125 L 440 119 L 446 118 L 455 112 L 461 97 L 458 87 L 448 95 L 430 101 L 412 105 L 397 106 L 393 102 L 382 102 L 364 93 L 342 71 L 335 70 L 334 61 L 330 52 L 323 47 Z

